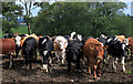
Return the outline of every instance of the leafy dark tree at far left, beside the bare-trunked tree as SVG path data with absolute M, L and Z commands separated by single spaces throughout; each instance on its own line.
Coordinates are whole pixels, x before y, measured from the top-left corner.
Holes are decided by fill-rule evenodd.
M 22 15 L 22 7 L 14 2 L 2 2 L 2 31 L 11 33 L 11 28 L 18 28 L 18 18 Z

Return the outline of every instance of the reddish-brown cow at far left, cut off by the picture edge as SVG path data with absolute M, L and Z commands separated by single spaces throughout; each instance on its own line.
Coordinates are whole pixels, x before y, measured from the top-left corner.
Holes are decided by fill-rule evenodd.
M 12 67 L 13 56 L 16 52 L 16 42 L 12 39 L 0 39 L 0 54 L 4 54 L 10 56 L 10 65 Z

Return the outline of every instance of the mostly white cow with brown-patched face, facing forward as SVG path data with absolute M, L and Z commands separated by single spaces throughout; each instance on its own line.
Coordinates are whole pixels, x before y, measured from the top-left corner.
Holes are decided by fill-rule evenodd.
M 65 60 L 65 48 L 68 45 L 68 40 L 61 35 L 57 36 L 53 42 L 55 56 L 62 59 L 62 64 L 64 64 Z

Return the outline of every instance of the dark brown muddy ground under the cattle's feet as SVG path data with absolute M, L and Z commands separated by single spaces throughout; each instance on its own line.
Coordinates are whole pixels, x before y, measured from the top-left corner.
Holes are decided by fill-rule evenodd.
M 117 72 L 112 71 L 112 59 L 106 67 L 102 64 L 102 74 L 98 80 L 93 78 L 93 74 L 88 73 L 88 66 L 81 65 L 82 71 L 76 72 L 75 65 L 72 64 L 72 72 L 66 73 L 66 63 L 60 64 L 55 60 L 52 64 L 52 72 L 45 73 L 41 70 L 41 61 L 32 63 L 32 70 L 25 66 L 22 59 L 14 60 L 14 66 L 8 67 L 9 60 L 2 60 L 2 82 L 133 82 L 133 59 L 125 59 L 126 72 L 122 72 L 122 65 L 119 62 Z

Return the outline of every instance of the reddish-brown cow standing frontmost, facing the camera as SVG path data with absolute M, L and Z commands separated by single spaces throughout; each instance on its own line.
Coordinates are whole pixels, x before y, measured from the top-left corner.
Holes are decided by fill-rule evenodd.
M 84 43 L 83 54 L 88 60 L 89 73 L 91 74 L 90 65 L 92 65 L 94 69 L 94 78 L 96 78 L 96 69 L 99 71 L 99 75 L 101 75 L 100 67 L 104 54 L 102 43 L 100 43 L 96 39 L 88 39 Z

